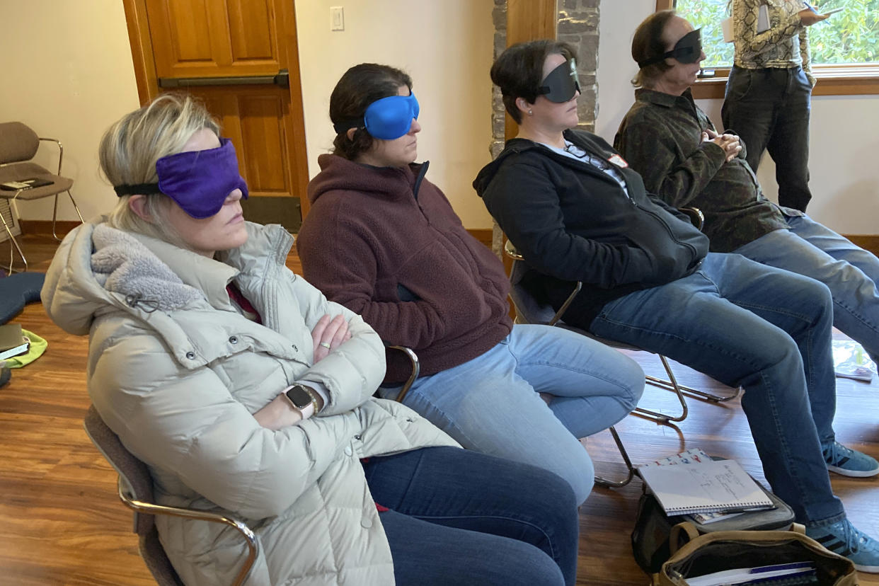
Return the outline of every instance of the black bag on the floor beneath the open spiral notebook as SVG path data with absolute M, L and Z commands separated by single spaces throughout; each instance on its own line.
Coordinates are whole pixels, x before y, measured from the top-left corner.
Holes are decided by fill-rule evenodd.
M 638 566 L 649 575 L 656 574 L 672 555 L 669 544 L 672 526 L 685 521 L 694 525 L 700 535 L 721 531 L 787 530 L 794 523 L 794 511 L 759 482 L 758 485 L 772 499 L 775 509 L 742 513 L 708 524 L 698 523 L 689 515 L 668 517 L 656 497 L 645 492 L 638 502 L 638 517 L 632 531 L 632 553 Z

